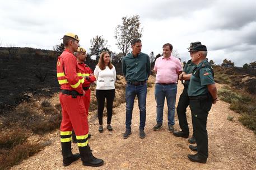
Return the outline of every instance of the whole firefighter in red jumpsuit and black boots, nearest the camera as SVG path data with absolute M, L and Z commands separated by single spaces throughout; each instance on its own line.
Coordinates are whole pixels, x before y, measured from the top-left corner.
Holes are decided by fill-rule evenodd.
M 88 121 L 82 88 L 83 77 L 73 55 L 78 49 L 78 36 L 68 33 L 63 36 L 65 50 L 57 60 L 57 78 L 61 92 L 59 101 L 62 106 L 62 122 L 60 125 L 60 141 L 62 145 L 63 166 L 68 166 L 81 157 L 84 166 L 101 166 L 102 159 L 95 158 L 88 144 Z M 80 154 L 72 154 L 72 130 L 76 133 Z

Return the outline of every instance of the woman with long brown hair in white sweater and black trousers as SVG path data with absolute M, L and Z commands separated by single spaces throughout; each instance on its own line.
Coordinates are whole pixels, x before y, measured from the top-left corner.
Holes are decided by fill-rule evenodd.
M 96 81 L 97 114 L 99 119 L 99 132 L 103 132 L 103 110 L 106 98 L 106 110 L 108 112 L 106 129 L 112 131 L 111 118 L 113 113 L 113 102 L 115 98 L 115 79 L 117 73 L 115 67 L 110 62 L 110 55 L 104 51 L 100 54 L 99 63 L 96 65 L 94 75 Z

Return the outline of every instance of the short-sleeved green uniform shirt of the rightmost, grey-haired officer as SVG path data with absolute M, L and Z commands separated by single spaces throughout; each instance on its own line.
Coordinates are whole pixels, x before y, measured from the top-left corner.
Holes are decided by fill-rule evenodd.
M 208 63 L 207 60 L 199 63 L 196 68 L 194 68 L 190 82 L 188 85 L 188 96 L 199 96 L 208 93 L 207 85 L 214 84 L 212 70 L 207 67 L 202 67 L 199 70 L 199 77 L 196 76 L 196 69 L 202 66 L 203 63 Z

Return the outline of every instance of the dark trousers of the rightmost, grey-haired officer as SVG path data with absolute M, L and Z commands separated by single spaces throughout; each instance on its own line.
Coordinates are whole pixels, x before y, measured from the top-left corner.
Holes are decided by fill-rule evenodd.
M 189 107 L 192 111 L 194 136 L 197 141 L 197 153 L 208 158 L 208 134 L 206 123 L 208 112 L 212 107 L 212 100 L 190 100 Z

